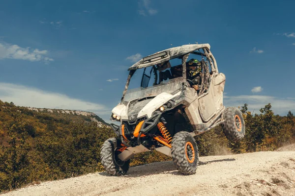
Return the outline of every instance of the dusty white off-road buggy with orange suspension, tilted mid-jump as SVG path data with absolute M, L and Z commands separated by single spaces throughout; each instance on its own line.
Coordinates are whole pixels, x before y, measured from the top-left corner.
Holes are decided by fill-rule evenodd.
M 189 56 L 200 59 L 202 82 L 198 91 L 187 79 Z M 199 162 L 194 136 L 220 124 L 229 140 L 244 137 L 241 112 L 223 106 L 225 75 L 218 72 L 209 44 L 165 49 L 144 57 L 128 70 L 121 102 L 111 115 L 112 121 L 120 123 L 111 124 L 117 137 L 106 140 L 100 152 L 107 173 L 125 174 L 135 154 L 157 150 L 171 156 L 181 173 L 194 174 Z M 128 90 L 131 78 L 138 77 L 136 71 L 140 70 L 141 86 Z

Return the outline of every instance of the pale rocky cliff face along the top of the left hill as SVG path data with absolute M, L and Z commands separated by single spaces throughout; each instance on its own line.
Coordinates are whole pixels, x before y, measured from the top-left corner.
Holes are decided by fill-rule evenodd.
M 102 120 L 99 116 L 94 114 L 93 112 L 85 112 L 85 111 L 76 111 L 76 110 L 61 110 L 61 109 L 46 109 L 46 108 L 32 108 L 26 107 L 30 111 L 38 112 L 38 113 L 52 113 L 56 115 L 65 115 L 71 118 L 71 116 L 83 116 L 86 121 L 92 121 L 97 123 L 98 127 L 102 127 L 104 125 L 109 125 L 104 120 Z

